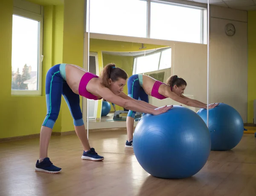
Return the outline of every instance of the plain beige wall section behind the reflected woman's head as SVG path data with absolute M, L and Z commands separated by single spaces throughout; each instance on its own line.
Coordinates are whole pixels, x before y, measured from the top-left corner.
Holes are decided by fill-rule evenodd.
M 184 94 L 207 103 L 207 45 L 175 43 L 172 75 L 187 82 Z M 198 111 L 199 108 L 195 108 Z

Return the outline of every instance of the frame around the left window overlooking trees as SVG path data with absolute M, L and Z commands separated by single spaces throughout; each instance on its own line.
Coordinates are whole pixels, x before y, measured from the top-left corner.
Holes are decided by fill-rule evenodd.
M 25 17 L 28 19 L 36 20 L 39 22 L 39 31 L 38 31 L 38 81 L 37 86 L 38 90 L 12 90 L 12 95 L 29 95 L 29 96 L 41 96 L 42 95 L 42 64 L 43 64 L 43 32 L 44 32 L 44 7 L 41 6 L 41 14 L 37 14 L 32 11 L 27 11 L 25 9 L 20 9 L 17 7 L 13 8 L 13 15 L 20 17 Z

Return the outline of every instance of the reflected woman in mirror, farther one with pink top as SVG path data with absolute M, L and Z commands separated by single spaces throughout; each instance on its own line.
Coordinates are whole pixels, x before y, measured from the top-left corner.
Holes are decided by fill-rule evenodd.
M 183 95 L 187 83 L 182 78 L 179 78 L 177 75 L 175 75 L 169 77 L 166 83 L 167 85 L 143 74 L 132 75 L 127 82 L 128 96 L 133 99 L 140 98 L 140 100 L 144 102 L 148 102 L 148 95 L 157 99 L 166 99 L 169 97 L 184 105 L 196 108 L 207 108 L 207 104 L 195 99 L 189 99 Z M 211 104 L 209 105 L 209 109 L 215 108 L 217 105 L 218 104 Z M 129 110 L 126 119 L 128 140 L 125 143 L 125 147 L 127 148 L 133 148 L 132 140 L 135 114 L 136 110 Z

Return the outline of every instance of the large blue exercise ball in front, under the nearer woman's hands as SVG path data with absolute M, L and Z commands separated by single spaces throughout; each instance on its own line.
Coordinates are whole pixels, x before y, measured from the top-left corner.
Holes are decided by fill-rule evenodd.
M 133 148 L 142 168 L 152 176 L 182 179 L 204 167 L 211 139 L 198 114 L 174 105 L 166 113 L 146 114 L 140 119 L 134 131 Z

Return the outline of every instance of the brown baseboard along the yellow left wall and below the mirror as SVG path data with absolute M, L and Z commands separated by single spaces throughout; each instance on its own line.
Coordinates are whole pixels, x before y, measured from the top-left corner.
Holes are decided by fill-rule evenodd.
M 135 128 L 134 128 L 135 129 Z M 105 128 L 105 129 L 89 129 L 89 133 L 102 132 L 102 131 L 126 131 L 126 128 Z M 65 131 L 65 132 L 52 132 L 52 136 L 68 136 L 75 135 L 76 131 Z M 16 141 L 21 139 L 39 138 L 40 134 L 32 134 L 26 136 L 15 136 L 0 138 L 0 142 Z

